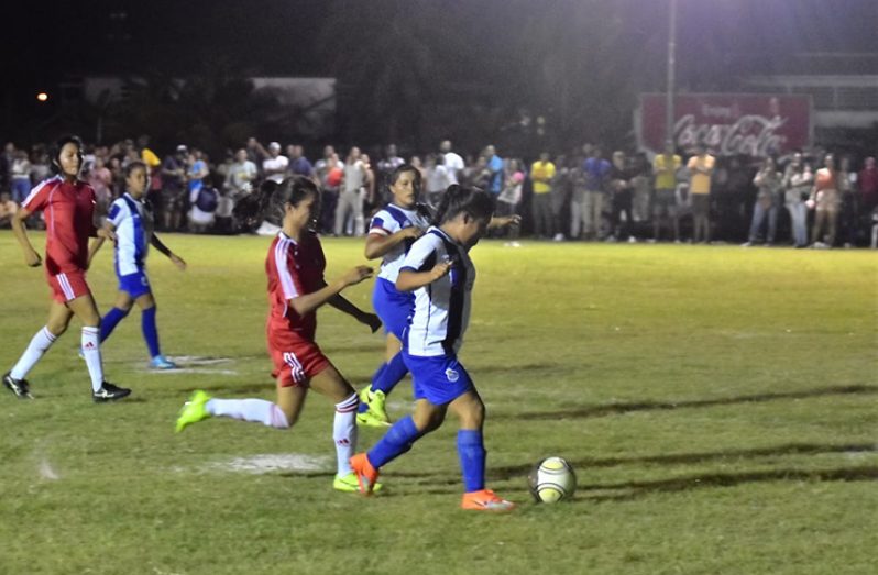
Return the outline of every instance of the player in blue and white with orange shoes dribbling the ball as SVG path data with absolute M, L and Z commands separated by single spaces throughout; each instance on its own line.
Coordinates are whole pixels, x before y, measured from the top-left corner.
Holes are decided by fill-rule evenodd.
M 461 507 L 480 511 L 508 511 L 515 507 L 485 488 L 485 408 L 458 361 L 475 283 L 469 251 L 487 230 L 493 211 L 494 201 L 484 190 L 450 186 L 439 206 L 439 225 L 415 242 L 403 262 L 396 288 L 415 294 L 402 352 L 414 378 L 415 412 L 394 423 L 369 453 L 351 458 L 363 494 L 372 491 L 383 465 L 438 429 L 450 410 L 460 419 L 457 443 L 464 484 Z

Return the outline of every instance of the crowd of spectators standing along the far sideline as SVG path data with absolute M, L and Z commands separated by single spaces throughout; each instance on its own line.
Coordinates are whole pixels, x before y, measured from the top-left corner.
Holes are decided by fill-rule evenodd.
M 704 147 L 668 146 L 644 153 L 607 152 L 584 144 L 564 154 L 503 157 L 493 145 L 458 154 L 450 141 L 433 152 L 402 157 L 393 144 L 345 154 L 327 145 L 316 162 L 301 145 L 263 145 L 251 137 L 224 157 L 210 158 L 185 144 L 164 157 L 150 139 L 92 145 L 83 178 L 95 188 L 98 212 L 124 192 L 123 170 L 139 159 L 150 166 L 149 200 L 162 231 L 273 233 L 263 222 L 242 229 L 234 206 L 265 180 L 292 175 L 314 178 L 322 189 L 320 231 L 360 236 L 369 218 L 389 201 L 387 174 L 404 163 L 422 176 L 421 201 L 438 204 L 452 184 L 478 186 L 496 198 L 501 215 L 519 214 L 520 228 L 505 230 L 507 245 L 522 234 L 553 241 L 743 242 L 797 247 L 876 246 L 878 168 L 874 157 L 794 152 L 780 158 L 714 157 Z M 46 146 L 13 143 L 0 157 L 0 225 L 31 188 L 51 174 Z M 31 222 L 39 226 L 40 222 Z

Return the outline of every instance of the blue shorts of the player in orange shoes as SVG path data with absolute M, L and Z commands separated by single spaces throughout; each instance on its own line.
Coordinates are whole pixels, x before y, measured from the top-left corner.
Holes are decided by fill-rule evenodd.
M 415 382 L 415 399 L 426 399 L 435 406 L 445 406 L 474 389 L 470 374 L 453 355 L 422 357 L 409 355 L 403 350 L 403 362 Z

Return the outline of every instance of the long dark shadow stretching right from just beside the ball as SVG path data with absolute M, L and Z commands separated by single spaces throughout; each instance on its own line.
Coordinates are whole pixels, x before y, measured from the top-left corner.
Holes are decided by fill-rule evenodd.
M 581 490 L 624 490 L 622 494 L 590 494 L 591 501 L 627 501 L 651 494 L 679 493 L 710 487 L 735 487 L 759 482 L 865 482 L 878 479 L 878 467 L 838 467 L 833 469 L 770 469 L 765 472 L 711 473 L 658 479 L 652 482 L 625 482 L 616 484 L 589 484 Z

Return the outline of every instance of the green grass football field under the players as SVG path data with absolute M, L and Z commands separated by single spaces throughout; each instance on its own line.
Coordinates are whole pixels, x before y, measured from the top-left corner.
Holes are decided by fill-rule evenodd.
M 78 325 L 30 374 L 36 400 L 0 395 L 1 574 L 878 573 L 875 252 L 480 244 L 462 360 L 489 409 L 490 486 L 522 504 L 486 517 L 457 508 L 453 421 L 371 499 L 331 489 L 319 396 L 288 432 L 216 420 L 174 434 L 193 389 L 273 398 L 268 240 L 164 239 L 190 265 L 150 264 L 164 351 L 186 369 L 146 369 L 133 313 L 103 347 L 130 400 L 91 403 Z M 329 277 L 362 262 L 359 241 L 325 248 Z M 6 371 L 47 288 L 9 231 L 0 269 Z M 106 310 L 109 251 L 89 283 Z M 370 290 L 345 294 L 367 307 Z M 331 309 L 318 340 L 358 388 L 383 349 Z M 403 383 L 392 416 L 410 398 Z M 529 501 L 547 455 L 575 467 L 572 501 Z

